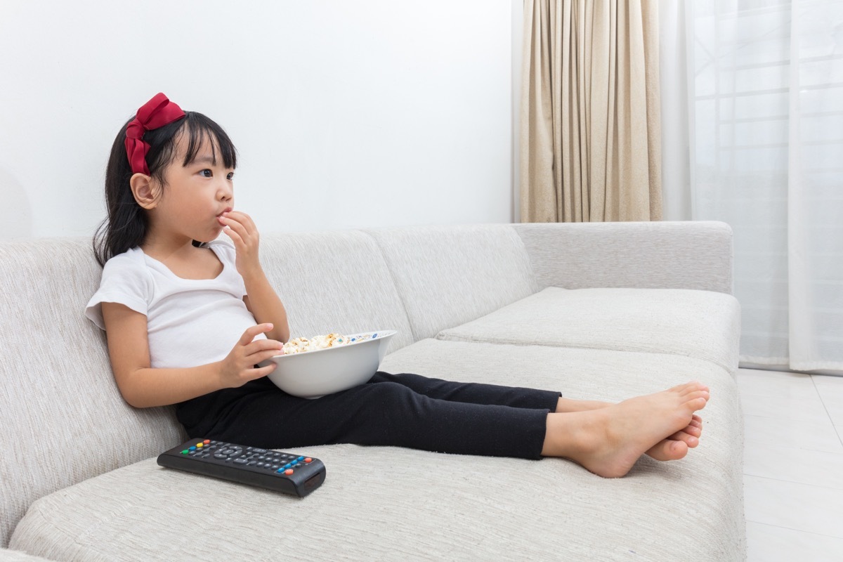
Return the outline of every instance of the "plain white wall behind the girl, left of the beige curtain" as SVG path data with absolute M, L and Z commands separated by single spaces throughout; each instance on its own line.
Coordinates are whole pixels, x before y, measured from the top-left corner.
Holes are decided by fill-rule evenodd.
M 228 131 L 262 232 L 511 222 L 516 7 L 0 0 L 0 239 L 92 234 L 158 91 Z

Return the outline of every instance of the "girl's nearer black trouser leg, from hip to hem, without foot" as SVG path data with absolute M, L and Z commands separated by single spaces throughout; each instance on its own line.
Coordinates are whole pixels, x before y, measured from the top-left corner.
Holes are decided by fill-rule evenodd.
M 237 399 L 223 400 L 226 407 L 207 426 L 189 427 L 191 436 L 276 449 L 355 443 L 538 459 L 550 413 L 433 399 L 391 380 L 314 400 L 290 396 L 271 383 L 253 385 L 248 393 L 232 390 Z

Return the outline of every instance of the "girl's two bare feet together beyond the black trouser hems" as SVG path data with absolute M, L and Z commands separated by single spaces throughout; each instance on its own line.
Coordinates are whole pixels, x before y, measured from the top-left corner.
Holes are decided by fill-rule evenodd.
M 645 453 L 683 458 L 698 442 L 701 423 L 694 412 L 708 398 L 705 385 L 686 383 L 606 408 L 550 414 L 542 454 L 571 458 L 605 478 L 625 475 Z

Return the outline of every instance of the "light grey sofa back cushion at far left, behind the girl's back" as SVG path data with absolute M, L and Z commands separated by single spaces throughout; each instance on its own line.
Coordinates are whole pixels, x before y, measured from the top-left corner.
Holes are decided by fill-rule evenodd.
M 183 438 L 172 408 L 117 389 L 105 333 L 85 318 L 102 270 L 90 238 L 0 244 L 0 544 L 32 501 Z

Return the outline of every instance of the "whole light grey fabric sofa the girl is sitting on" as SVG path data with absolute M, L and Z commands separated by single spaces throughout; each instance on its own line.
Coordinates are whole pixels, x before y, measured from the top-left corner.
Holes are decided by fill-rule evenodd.
M 266 230 L 266 227 L 265 227 Z M 121 399 L 89 238 L 0 244 L 0 560 L 745 558 L 740 311 L 722 222 L 264 234 L 293 337 L 395 329 L 380 369 L 617 402 L 711 388 L 699 447 L 620 479 L 566 459 L 298 447 L 298 498 L 159 467 L 173 407 Z

